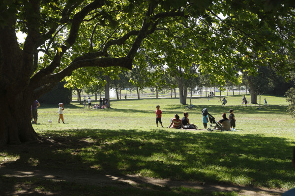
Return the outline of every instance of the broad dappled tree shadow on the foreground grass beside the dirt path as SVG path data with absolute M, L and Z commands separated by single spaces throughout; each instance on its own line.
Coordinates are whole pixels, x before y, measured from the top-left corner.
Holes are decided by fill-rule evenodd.
M 295 185 L 294 142 L 262 135 L 179 130 L 49 130 L 43 144 L 7 146 L 7 168 L 140 174 L 264 187 Z

